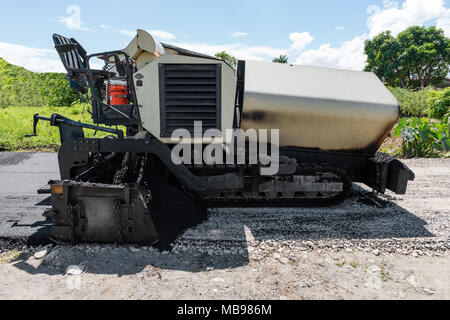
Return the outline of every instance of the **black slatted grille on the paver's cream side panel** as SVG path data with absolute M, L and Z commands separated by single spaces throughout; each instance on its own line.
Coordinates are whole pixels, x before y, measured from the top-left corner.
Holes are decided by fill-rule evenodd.
M 195 121 L 203 133 L 221 129 L 222 65 L 160 64 L 161 137 L 176 129 L 194 133 Z

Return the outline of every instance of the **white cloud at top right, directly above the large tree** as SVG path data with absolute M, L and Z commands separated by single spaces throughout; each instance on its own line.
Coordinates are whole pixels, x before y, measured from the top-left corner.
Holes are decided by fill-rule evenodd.
M 369 37 L 386 30 L 397 35 L 410 26 L 441 18 L 445 12 L 443 0 L 405 0 L 401 6 L 396 1 L 384 0 L 383 8 L 375 5 L 367 8 Z

